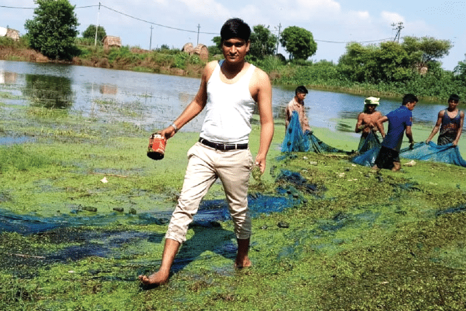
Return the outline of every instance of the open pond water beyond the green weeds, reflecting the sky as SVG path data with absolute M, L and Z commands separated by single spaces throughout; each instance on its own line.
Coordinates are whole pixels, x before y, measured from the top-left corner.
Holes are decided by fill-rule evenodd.
M 195 96 L 199 81 L 85 66 L 0 61 L 0 92 L 12 95 L 1 98 L 4 103 L 64 108 L 83 116 L 134 123 L 148 131 L 170 125 Z M 284 118 L 284 107 L 293 96 L 294 88 L 273 86 L 275 119 Z M 311 127 L 353 131 L 354 127 L 342 127 L 339 120 L 356 122 L 367 96 L 310 90 L 306 105 Z M 381 99 L 378 110 L 387 114 L 399 106 L 400 101 Z M 446 106 L 421 101 L 413 110 L 413 121 L 433 126 L 437 113 Z M 203 116 L 182 130 L 198 132 Z

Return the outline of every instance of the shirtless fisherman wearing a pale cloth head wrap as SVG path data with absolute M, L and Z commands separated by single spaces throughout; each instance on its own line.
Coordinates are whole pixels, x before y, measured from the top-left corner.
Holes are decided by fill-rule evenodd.
M 382 113 L 376 110 L 377 106 L 379 105 L 379 101 L 380 98 L 378 97 L 367 97 L 367 99 L 364 100 L 363 112 L 358 114 L 358 121 L 356 122 L 356 128 L 354 129 L 354 132 L 363 132 L 363 134 L 361 134 L 358 146 L 358 151 L 360 152 L 367 136 L 369 136 L 371 132 L 373 132 L 373 134 L 376 134 L 377 132 L 377 120 L 382 118 Z M 375 137 L 378 141 L 378 136 L 375 135 Z

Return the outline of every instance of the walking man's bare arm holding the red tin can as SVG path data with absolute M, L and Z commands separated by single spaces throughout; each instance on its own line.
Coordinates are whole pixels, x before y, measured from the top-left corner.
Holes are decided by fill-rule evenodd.
M 166 139 L 173 137 L 178 129 L 181 129 L 186 123 L 193 120 L 194 117 L 204 109 L 207 103 L 207 82 L 216 65 L 217 62 L 210 62 L 204 68 L 204 72 L 201 77 L 201 85 L 199 86 L 197 95 L 194 97 L 193 101 L 184 108 L 184 111 L 177 117 L 175 122 L 173 122 L 177 128 L 175 129 L 175 127 L 170 125 L 160 131 L 160 134 Z

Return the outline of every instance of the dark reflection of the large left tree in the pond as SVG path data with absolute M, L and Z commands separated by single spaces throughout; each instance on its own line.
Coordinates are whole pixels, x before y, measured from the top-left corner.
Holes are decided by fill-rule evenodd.
M 23 95 L 31 105 L 49 109 L 66 109 L 73 105 L 71 79 L 53 75 L 25 75 Z

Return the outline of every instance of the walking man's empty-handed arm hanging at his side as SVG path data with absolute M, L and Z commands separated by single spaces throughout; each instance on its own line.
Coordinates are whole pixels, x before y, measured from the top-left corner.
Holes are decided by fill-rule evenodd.
M 260 117 L 260 142 L 256 165 L 260 167 L 260 173 L 264 173 L 267 152 L 273 138 L 272 86 L 267 73 L 260 69 L 256 69 L 255 84 L 258 90 L 256 102 Z

